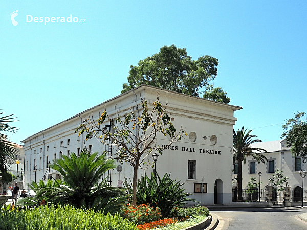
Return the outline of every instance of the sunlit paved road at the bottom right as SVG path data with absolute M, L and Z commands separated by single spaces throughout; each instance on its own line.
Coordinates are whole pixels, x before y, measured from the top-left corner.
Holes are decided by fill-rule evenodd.
M 301 208 L 233 208 L 210 209 L 220 219 L 216 230 L 302 230 L 307 222 L 298 215 L 307 212 Z

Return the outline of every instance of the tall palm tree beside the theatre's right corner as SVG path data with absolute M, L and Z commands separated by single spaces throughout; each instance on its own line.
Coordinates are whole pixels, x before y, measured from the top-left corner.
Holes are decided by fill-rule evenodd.
M 258 163 L 261 161 L 265 164 L 265 160 L 268 161 L 268 159 L 262 155 L 262 152 L 267 152 L 265 149 L 251 147 L 251 144 L 253 143 L 262 142 L 260 139 L 252 140 L 253 137 L 257 137 L 250 134 L 252 131 L 253 130 L 244 130 L 244 126 L 241 130 L 238 129 L 237 132 L 233 130 L 233 159 L 237 160 L 238 163 L 238 201 L 242 201 L 242 162 L 245 163 L 247 156 L 252 156 L 255 160 L 257 160 Z

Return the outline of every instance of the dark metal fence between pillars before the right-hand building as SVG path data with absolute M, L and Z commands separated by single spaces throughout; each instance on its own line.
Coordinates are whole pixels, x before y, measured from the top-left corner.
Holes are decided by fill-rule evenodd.
M 260 194 L 258 190 L 255 190 L 255 192 L 251 193 L 248 189 L 242 189 L 242 199 L 244 201 L 259 201 L 259 195 L 260 195 L 260 201 L 266 202 L 267 196 L 266 196 L 266 190 L 260 190 Z M 272 194 L 272 202 L 276 203 L 282 203 L 283 202 L 283 196 L 284 191 L 273 191 Z M 303 192 L 303 199 L 304 202 L 307 202 L 307 191 Z M 232 201 L 235 201 L 237 199 L 237 189 L 232 189 Z M 302 201 L 302 191 L 292 191 L 290 193 L 290 202 L 301 202 Z

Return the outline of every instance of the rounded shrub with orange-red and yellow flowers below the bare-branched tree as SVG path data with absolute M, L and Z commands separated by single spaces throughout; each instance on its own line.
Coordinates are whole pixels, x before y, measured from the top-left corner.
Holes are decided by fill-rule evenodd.
M 152 208 L 147 204 L 136 207 L 128 204 L 121 209 L 121 215 L 133 223 L 143 224 L 159 220 L 161 218 L 161 210 L 158 207 Z

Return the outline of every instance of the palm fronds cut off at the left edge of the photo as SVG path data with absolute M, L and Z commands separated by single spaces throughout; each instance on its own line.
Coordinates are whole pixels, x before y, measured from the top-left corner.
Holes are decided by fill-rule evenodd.
M 10 126 L 10 122 L 14 122 L 13 115 L 3 116 L 4 112 L 0 112 L 0 173 L 2 179 L 6 182 L 9 180 L 7 170 L 9 163 L 16 159 L 17 150 L 14 144 L 9 141 L 7 132 L 14 133 L 18 128 Z

